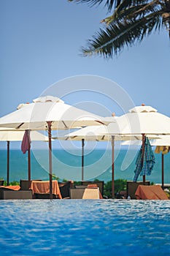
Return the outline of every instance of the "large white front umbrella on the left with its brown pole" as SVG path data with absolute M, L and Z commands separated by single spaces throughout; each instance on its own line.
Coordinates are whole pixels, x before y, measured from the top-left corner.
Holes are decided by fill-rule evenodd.
M 23 105 L 15 112 L 0 118 L 0 127 L 48 131 L 50 199 L 53 198 L 52 129 L 70 129 L 99 124 L 109 124 L 109 121 L 88 111 L 67 105 L 61 99 L 51 96 L 34 99 L 33 103 Z

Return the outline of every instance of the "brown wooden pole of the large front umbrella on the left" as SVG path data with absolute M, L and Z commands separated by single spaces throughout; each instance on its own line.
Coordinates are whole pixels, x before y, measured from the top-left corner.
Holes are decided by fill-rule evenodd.
M 52 121 L 47 121 L 47 125 L 48 125 L 48 147 L 49 147 L 48 150 L 49 150 L 50 199 L 53 199 L 51 124 L 52 124 Z

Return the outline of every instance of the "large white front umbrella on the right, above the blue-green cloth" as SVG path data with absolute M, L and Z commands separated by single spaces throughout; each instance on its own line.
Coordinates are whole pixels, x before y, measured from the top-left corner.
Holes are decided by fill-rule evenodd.
M 109 135 L 142 135 L 142 159 L 146 135 L 170 135 L 170 118 L 150 106 L 136 106 L 107 127 Z M 103 134 L 104 135 L 104 134 Z M 145 181 L 145 176 L 143 176 Z

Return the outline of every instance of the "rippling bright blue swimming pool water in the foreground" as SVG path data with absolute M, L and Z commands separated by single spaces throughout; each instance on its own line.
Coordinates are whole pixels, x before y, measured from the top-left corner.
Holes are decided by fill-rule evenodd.
M 0 254 L 169 255 L 170 200 L 1 200 Z

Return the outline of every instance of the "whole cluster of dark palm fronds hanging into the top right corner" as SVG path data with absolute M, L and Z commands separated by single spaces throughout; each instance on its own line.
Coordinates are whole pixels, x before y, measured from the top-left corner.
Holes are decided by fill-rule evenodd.
M 76 0 L 70 0 L 76 1 Z M 104 4 L 112 15 L 101 20 L 107 26 L 100 29 L 88 46 L 82 48 L 84 56 L 101 55 L 112 58 L 125 46 L 141 42 L 153 30 L 166 28 L 170 37 L 170 1 L 158 0 L 77 0 L 77 3 L 88 3 L 90 7 Z

